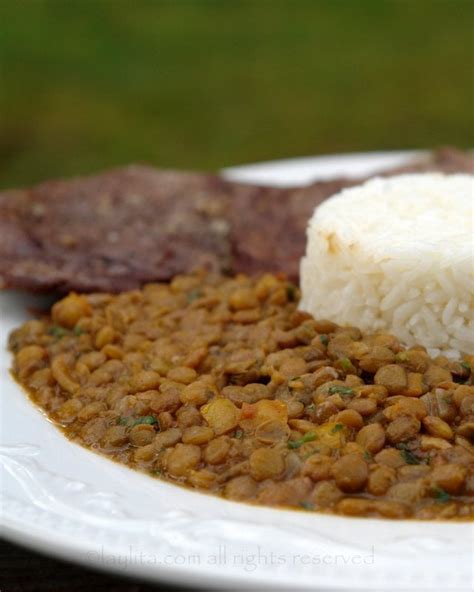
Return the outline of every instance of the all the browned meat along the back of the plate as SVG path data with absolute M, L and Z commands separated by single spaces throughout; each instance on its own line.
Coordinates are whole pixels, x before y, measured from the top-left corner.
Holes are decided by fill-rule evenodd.
M 473 172 L 474 158 L 444 150 L 407 168 Z M 315 206 L 359 182 L 277 189 L 130 166 L 4 191 L 0 286 L 120 292 L 199 267 L 297 281 Z

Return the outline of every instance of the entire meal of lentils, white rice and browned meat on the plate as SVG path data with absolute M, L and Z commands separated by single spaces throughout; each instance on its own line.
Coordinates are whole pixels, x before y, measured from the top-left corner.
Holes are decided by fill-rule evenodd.
M 471 176 L 394 176 L 433 170 Z M 70 292 L 11 334 L 13 374 L 71 440 L 157 478 L 472 519 L 473 172 L 446 150 L 358 187 L 130 166 L 0 193 L 2 286 Z

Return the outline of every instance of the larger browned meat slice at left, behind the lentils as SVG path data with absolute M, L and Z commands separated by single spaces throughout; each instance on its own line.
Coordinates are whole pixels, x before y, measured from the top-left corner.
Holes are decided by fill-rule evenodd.
M 0 282 L 119 291 L 228 271 L 227 193 L 217 176 L 145 166 L 0 193 Z

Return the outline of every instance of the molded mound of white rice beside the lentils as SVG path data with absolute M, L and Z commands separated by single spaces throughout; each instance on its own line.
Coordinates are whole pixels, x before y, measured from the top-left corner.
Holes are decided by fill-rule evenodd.
M 300 307 L 450 357 L 474 354 L 474 176 L 376 178 L 315 210 Z

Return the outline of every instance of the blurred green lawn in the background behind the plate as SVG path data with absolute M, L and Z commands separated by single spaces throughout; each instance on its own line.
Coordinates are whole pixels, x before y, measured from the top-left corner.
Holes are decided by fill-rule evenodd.
M 473 142 L 471 0 L 0 0 L 0 186 Z

